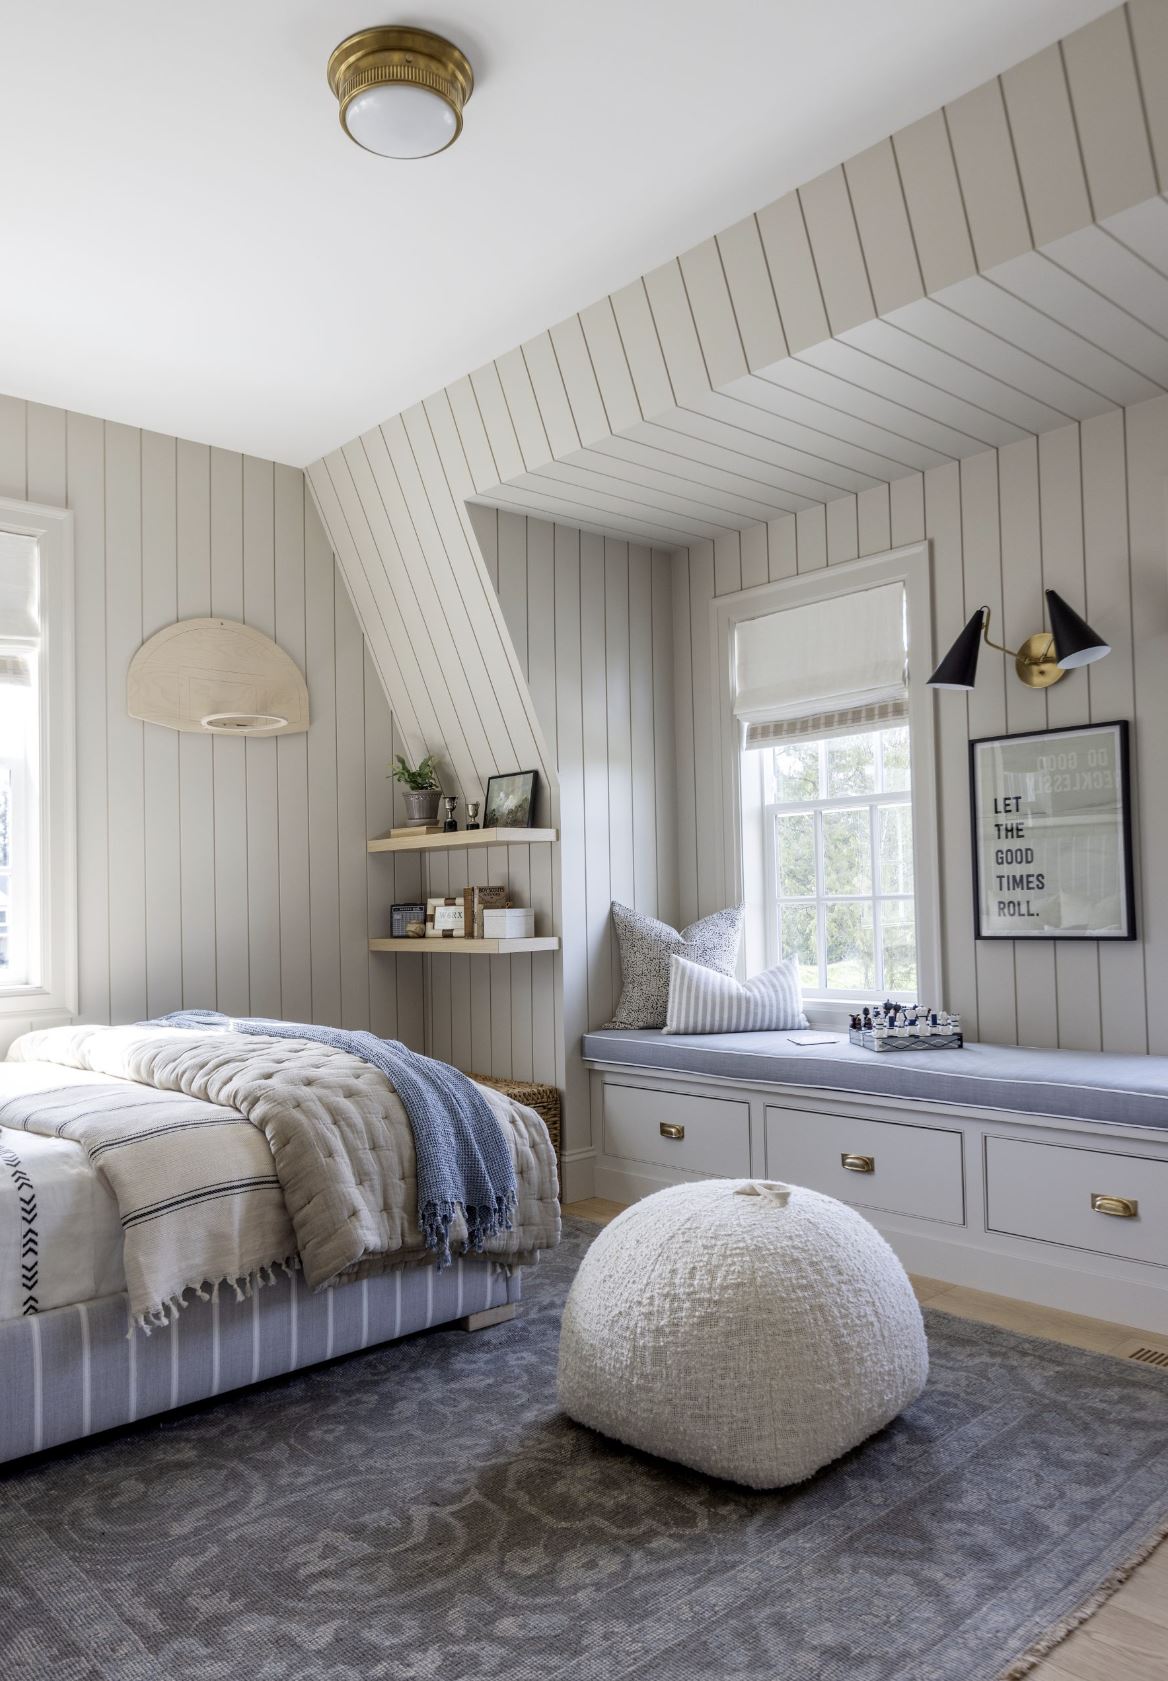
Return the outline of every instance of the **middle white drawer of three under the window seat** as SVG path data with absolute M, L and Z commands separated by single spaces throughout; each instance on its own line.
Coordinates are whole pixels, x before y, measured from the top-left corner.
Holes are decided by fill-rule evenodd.
M 766 1177 L 860 1209 L 965 1225 L 961 1133 L 939 1126 L 768 1108 Z

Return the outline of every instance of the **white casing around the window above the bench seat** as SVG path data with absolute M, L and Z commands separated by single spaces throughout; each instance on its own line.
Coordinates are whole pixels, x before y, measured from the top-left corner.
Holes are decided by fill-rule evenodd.
M 714 869 L 724 886 L 724 903 L 741 904 L 746 896 L 743 862 L 743 780 L 741 726 L 734 718 L 734 630 L 748 619 L 830 602 L 855 590 L 881 583 L 902 583 L 908 612 L 909 664 L 909 767 L 913 793 L 913 898 L 916 901 L 918 997 L 943 1005 L 941 997 L 941 879 L 938 852 L 936 797 L 936 730 L 934 696 L 928 688 L 933 671 L 931 622 L 931 550 L 928 540 L 906 548 L 840 561 L 795 578 L 760 583 L 711 602 L 711 661 L 716 681 L 711 684 L 714 706 L 711 767 L 714 787 L 721 787 L 723 822 L 716 830 Z M 701 767 L 699 767 L 701 795 Z M 743 958 L 744 963 L 744 958 Z M 758 967 L 758 965 L 755 965 Z M 810 1000 L 808 1019 L 815 1025 L 844 1027 L 852 1007 L 871 999 Z

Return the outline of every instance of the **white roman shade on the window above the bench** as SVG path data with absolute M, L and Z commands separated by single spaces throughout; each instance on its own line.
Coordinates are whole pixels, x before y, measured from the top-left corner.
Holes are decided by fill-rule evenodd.
M 881 583 L 736 625 L 734 716 L 748 748 L 908 718 L 904 585 Z

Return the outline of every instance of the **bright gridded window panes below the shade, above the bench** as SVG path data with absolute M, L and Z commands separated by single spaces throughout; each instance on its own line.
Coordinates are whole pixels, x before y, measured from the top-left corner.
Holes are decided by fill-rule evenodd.
M 812 997 L 916 999 L 908 725 L 763 758 L 768 963 L 793 956 Z

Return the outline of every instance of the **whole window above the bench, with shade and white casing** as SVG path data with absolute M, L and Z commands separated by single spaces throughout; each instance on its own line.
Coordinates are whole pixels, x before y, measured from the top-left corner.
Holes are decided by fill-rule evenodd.
M 726 903 L 743 975 L 793 956 L 807 1014 L 944 1005 L 928 545 L 714 603 Z

